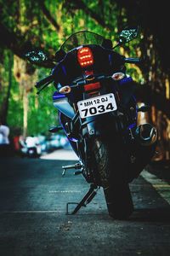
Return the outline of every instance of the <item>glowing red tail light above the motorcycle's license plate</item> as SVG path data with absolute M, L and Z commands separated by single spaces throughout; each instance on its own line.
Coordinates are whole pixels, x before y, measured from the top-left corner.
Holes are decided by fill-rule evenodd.
M 94 55 L 88 47 L 78 49 L 77 59 L 81 67 L 88 67 L 94 64 Z

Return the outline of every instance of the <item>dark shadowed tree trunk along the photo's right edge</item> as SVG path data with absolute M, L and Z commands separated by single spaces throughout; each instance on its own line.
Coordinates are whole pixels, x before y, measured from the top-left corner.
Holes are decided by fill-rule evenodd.
M 139 24 L 141 27 L 143 38 L 140 50 L 144 61 L 140 69 L 145 86 L 139 95 L 153 106 L 150 119 L 159 130 L 161 158 L 170 159 L 169 3 L 166 0 L 115 2 L 126 13 L 127 24 Z

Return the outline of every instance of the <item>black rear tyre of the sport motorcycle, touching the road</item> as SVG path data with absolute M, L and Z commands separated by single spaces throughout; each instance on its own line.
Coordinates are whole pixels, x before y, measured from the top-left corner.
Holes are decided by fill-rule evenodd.
M 93 144 L 94 169 L 99 173 L 108 212 L 112 218 L 126 219 L 133 212 L 133 201 L 127 183 L 123 150 L 111 141 L 99 138 L 95 138 Z

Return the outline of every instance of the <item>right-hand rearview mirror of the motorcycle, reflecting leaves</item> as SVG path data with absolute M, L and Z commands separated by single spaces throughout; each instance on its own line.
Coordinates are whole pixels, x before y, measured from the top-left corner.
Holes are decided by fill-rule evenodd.
M 137 38 L 139 34 L 139 27 L 123 29 L 119 34 L 119 44 L 126 44 L 127 42 Z

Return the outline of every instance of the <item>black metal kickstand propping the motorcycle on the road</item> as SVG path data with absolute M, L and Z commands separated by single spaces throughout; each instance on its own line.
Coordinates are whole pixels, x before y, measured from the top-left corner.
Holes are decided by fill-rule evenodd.
M 94 191 L 94 189 L 96 189 L 96 191 Z M 80 201 L 79 203 L 68 202 L 66 204 L 66 215 L 76 214 L 80 210 L 81 207 L 86 207 L 88 205 L 88 203 L 94 199 L 94 196 L 97 194 L 98 189 L 99 189 L 98 186 L 91 184 L 90 189 L 88 190 L 88 193 L 86 195 L 84 195 L 84 197 L 82 198 L 82 201 Z M 77 205 L 77 207 L 74 209 L 73 212 L 70 213 L 69 205 Z

